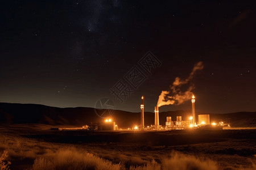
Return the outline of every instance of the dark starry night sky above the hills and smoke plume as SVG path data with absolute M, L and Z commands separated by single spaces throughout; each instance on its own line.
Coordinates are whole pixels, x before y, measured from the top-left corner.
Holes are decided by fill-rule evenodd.
M 154 111 L 176 77 L 195 87 L 196 112 L 256 111 L 254 1 L 5 1 L 0 5 L 0 102 Z M 139 64 L 151 52 L 150 73 Z M 137 68 L 137 87 L 125 75 Z M 141 71 L 141 72 L 140 72 Z M 120 102 L 111 89 L 133 90 Z M 139 80 L 139 79 L 138 79 Z M 185 90 L 186 87 L 183 87 Z M 162 111 L 190 110 L 191 101 Z

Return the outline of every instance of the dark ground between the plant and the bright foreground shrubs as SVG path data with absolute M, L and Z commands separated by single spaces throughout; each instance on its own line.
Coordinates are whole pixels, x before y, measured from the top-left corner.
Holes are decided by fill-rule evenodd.
M 46 125 L 2 125 L 1 152 L 9 151 L 11 169 L 30 168 L 39 157 L 71 148 L 122 168 L 162 163 L 173 152 L 208 158 L 218 169 L 254 168 L 256 130 L 52 131 Z M 163 166 L 164 167 L 164 166 Z M 162 168 L 163 168 L 162 167 Z M 35 169 L 35 168 L 34 168 Z

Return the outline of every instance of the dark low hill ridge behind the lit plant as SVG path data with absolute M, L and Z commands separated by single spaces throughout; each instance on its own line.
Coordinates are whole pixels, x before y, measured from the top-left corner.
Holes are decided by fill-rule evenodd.
M 77 107 L 57 108 L 40 104 L 0 103 L 1 124 L 48 124 L 48 125 L 85 125 L 90 122 L 103 122 L 106 117 L 98 116 L 102 110 Z M 104 111 L 104 110 L 103 110 Z M 97 113 L 96 113 L 97 112 Z M 166 117 L 171 116 L 176 121 L 176 116 L 187 120 L 190 111 L 168 111 L 159 113 L 160 125 L 165 125 Z M 208 113 L 197 113 L 208 114 Z M 126 111 L 113 111 L 112 118 L 121 128 L 139 125 L 141 113 Z M 225 114 L 210 113 L 210 121 L 230 121 L 232 126 L 256 127 L 256 112 L 237 112 Z M 144 112 L 144 125 L 154 125 L 154 113 Z

